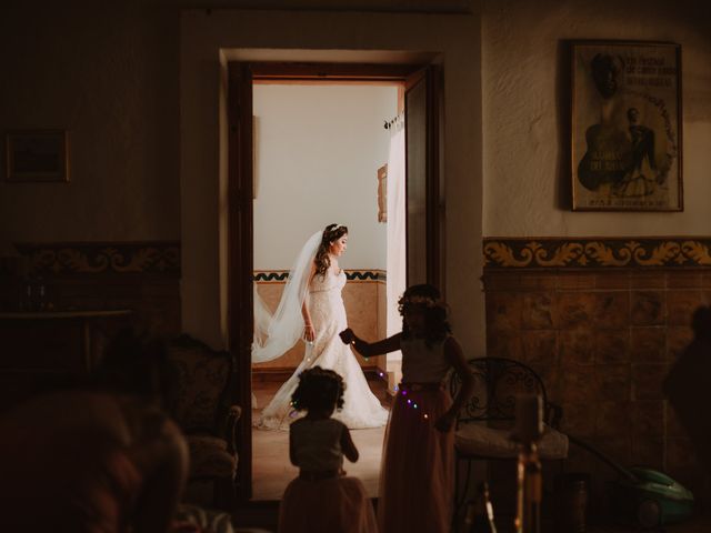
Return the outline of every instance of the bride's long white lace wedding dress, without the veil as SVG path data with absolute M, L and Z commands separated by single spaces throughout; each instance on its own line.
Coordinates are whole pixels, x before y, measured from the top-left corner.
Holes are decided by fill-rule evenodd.
M 349 344 L 343 344 L 339 333 L 348 328 L 341 290 L 346 285 L 346 272 L 321 276 L 316 274 L 309 286 L 309 312 L 316 330 L 313 344 L 307 344 L 303 361 L 289 380 L 281 385 L 272 401 L 262 411 L 258 426 L 289 428 L 302 413 L 291 409 L 291 395 L 299 384 L 299 374 L 306 369 L 321 366 L 338 372 L 346 382 L 343 409 L 333 418 L 350 429 L 380 428 L 388 422 L 388 411 L 371 392 Z M 303 413 L 306 414 L 306 413 Z

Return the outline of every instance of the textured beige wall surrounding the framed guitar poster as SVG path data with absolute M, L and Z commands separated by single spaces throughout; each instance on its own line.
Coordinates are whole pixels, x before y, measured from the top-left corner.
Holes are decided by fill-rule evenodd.
M 709 234 L 711 8 L 687 0 L 487 0 L 482 17 L 483 234 L 608 237 Z M 561 40 L 681 44 L 682 213 L 571 212 L 561 203 L 569 68 Z

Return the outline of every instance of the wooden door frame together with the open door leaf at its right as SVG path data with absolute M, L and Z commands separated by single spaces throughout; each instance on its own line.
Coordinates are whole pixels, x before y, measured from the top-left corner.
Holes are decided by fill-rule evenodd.
M 253 172 L 253 99 L 254 84 L 264 80 L 338 83 L 377 81 L 404 84 L 407 283 L 428 281 L 443 286 L 440 268 L 440 219 L 443 211 L 439 183 L 439 69 L 421 64 L 229 63 L 227 328 L 229 346 L 238 363 L 236 400 L 241 405 L 250 405 L 252 395 L 252 362 L 249 354 L 254 324 L 253 194 L 254 191 L 259 194 L 260 187 L 254 182 Z M 379 117 L 379 121 L 384 120 L 388 120 L 387 117 Z M 259 120 L 257 122 L 259 128 Z M 341 222 L 340 217 L 326 222 L 321 217 L 319 219 L 319 225 L 329 222 L 348 223 Z M 282 218 L 282 223 L 288 224 L 289 220 Z M 240 421 L 238 445 L 238 494 L 240 500 L 248 501 L 252 496 L 253 459 L 252 412 L 248 409 Z

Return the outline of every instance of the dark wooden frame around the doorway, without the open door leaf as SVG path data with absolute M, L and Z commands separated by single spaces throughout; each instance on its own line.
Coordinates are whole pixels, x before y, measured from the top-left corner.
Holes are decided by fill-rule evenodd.
M 313 62 L 238 62 L 228 63 L 228 272 L 227 272 L 227 321 L 228 349 L 236 360 L 237 392 L 234 401 L 242 405 L 238 423 L 236 444 L 239 454 L 236 487 L 238 502 L 247 503 L 252 495 L 252 413 L 251 413 L 251 356 L 253 335 L 253 130 L 252 87 L 257 82 L 402 82 L 432 64 L 381 64 L 381 63 L 313 63 Z M 428 98 L 432 100 L 432 117 L 428 120 L 428 145 L 439 145 L 438 94 L 441 70 L 434 68 Z M 439 150 L 428 150 L 427 174 L 427 238 L 433 243 L 428 250 L 428 281 L 443 286 L 440 268 L 440 179 Z M 407 183 L 405 183 L 407 187 Z M 431 275 L 430 275 L 431 273 Z M 431 279 L 430 279 L 431 278 Z

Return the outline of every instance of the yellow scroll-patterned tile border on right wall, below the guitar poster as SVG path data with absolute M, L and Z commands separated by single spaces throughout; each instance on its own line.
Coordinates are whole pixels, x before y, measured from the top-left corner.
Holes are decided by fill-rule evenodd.
M 485 238 L 484 270 L 711 268 L 711 238 Z

